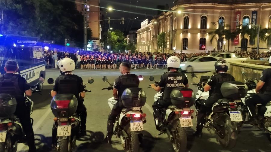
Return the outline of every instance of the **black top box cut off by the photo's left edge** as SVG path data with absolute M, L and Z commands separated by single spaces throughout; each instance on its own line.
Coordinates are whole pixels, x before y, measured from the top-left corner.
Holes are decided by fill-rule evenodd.
M 15 113 L 17 101 L 14 96 L 0 94 L 0 117 L 8 117 Z

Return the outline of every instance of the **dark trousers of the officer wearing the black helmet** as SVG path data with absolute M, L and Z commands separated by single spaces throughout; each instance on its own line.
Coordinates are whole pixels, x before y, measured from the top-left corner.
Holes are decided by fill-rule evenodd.
M 216 103 L 219 99 L 214 96 L 210 96 L 208 99 L 206 99 L 203 103 L 201 103 L 200 109 L 198 111 L 198 118 L 197 118 L 197 131 L 201 132 L 203 129 L 203 126 L 205 124 L 205 117 L 207 117 L 212 112 L 212 106 L 214 103 Z

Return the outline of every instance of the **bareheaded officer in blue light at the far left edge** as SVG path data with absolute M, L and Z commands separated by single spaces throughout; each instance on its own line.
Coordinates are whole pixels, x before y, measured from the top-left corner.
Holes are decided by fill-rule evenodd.
M 0 75 L 0 93 L 10 94 L 16 98 L 17 107 L 14 114 L 19 118 L 22 124 L 29 151 L 32 152 L 36 151 L 36 146 L 32 123 L 30 121 L 30 107 L 26 105 L 26 97 L 24 96 L 24 93 L 26 96 L 32 96 L 32 90 L 23 77 L 14 74 L 17 70 L 16 61 L 8 60 L 5 63 L 6 74 Z

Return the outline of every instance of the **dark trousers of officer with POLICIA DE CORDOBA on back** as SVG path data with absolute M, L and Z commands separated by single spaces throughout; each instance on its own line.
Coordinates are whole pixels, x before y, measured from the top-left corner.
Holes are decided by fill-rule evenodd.
M 152 108 L 159 122 L 164 121 L 163 111 L 165 108 L 168 108 L 169 105 L 172 105 L 171 100 L 163 99 L 163 96 L 153 103 Z

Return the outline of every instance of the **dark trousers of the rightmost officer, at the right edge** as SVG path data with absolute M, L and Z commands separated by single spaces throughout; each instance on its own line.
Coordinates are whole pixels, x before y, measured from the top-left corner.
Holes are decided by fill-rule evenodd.
M 259 112 L 261 115 L 263 115 L 267 108 L 265 107 L 266 103 L 271 101 L 271 95 L 269 94 L 263 94 L 263 93 L 258 93 L 258 94 L 253 94 L 251 96 L 246 97 L 245 99 L 245 104 L 248 107 L 248 110 L 251 114 L 251 116 L 255 116 L 256 115 L 256 108 L 255 106 L 257 104 L 262 104 L 262 106 L 260 106 L 259 108 Z

